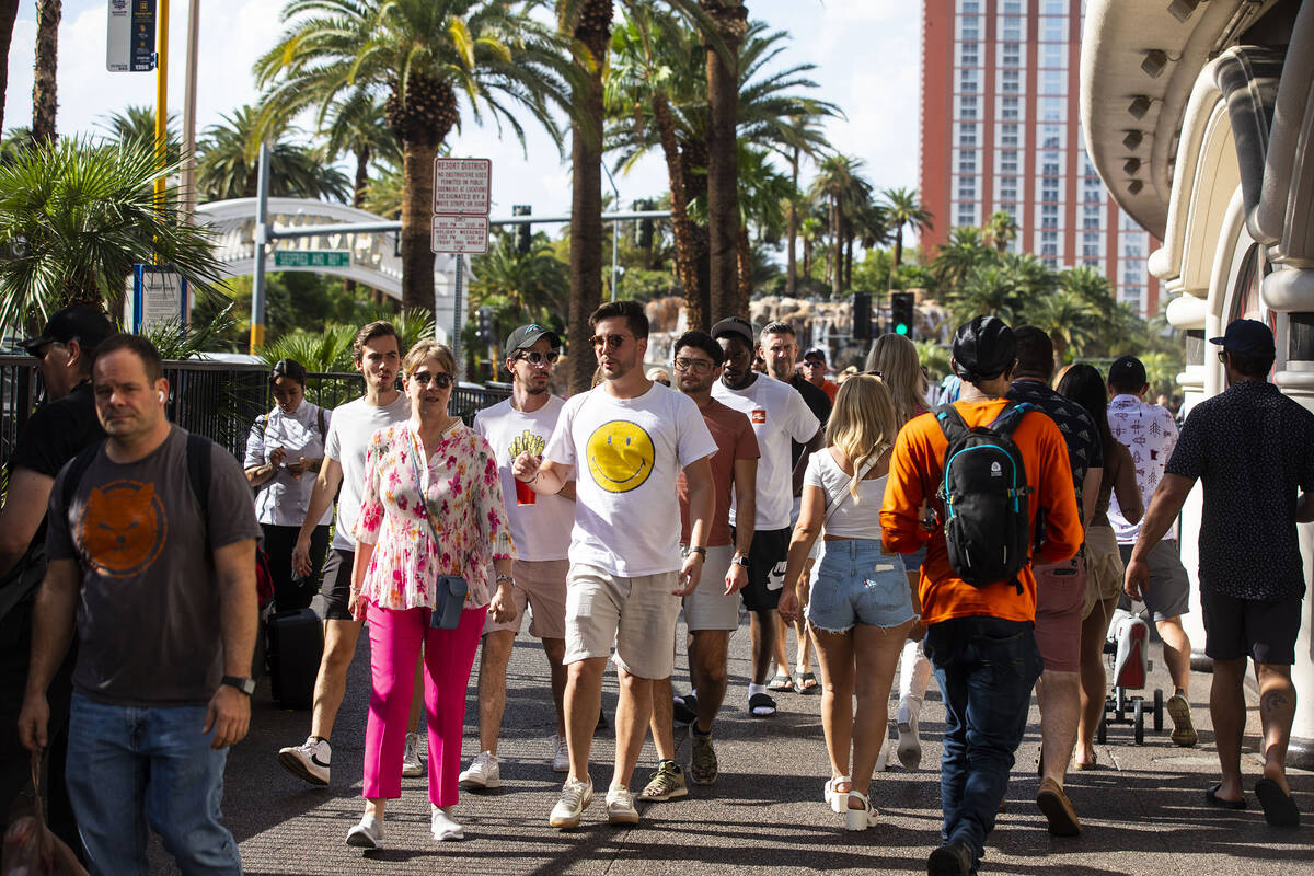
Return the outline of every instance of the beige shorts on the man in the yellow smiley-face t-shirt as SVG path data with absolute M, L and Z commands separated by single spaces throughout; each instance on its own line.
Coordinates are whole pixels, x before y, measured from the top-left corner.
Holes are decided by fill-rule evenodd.
M 566 655 L 562 663 L 610 657 L 639 678 L 668 678 L 679 596 L 678 571 L 619 578 L 597 566 L 573 565 L 566 579 Z

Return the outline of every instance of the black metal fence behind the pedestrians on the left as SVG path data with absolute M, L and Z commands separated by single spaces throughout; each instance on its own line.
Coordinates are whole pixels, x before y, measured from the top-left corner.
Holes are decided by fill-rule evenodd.
M 171 422 L 188 432 L 222 444 L 239 460 L 246 456 L 251 423 L 273 407 L 269 369 L 210 361 L 168 361 L 170 382 L 166 411 Z M 306 376 L 306 398 L 322 407 L 336 407 L 365 390 L 360 374 L 313 373 Z M 41 369 L 32 356 L 0 356 L 0 464 L 8 464 L 18 432 L 45 395 Z M 457 385 L 448 410 L 470 424 L 474 414 L 510 395 L 507 386 Z

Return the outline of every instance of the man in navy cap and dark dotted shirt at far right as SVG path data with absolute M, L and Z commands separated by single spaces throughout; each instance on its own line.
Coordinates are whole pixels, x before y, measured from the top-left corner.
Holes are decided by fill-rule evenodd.
M 1196 479 L 1205 495 L 1200 525 L 1200 602 L 1205 653 L 1214 661 L 1209 713 L 1222 781 L 1205 792 L 1225 809 L 1243 809 L 1240 745 L 1246 729 L 1242 683 L 1247 658 L 1259 675 L 1264 777 L 1255 795 L 1268 823 L 1300 825 L 1286 784 L 1286 745 L 1296 717 L 1296 637 L 1305 595 L 1296 524 L 1314 520 L 1314 414 L 1265 377 L 1273 335 L 1252 319 L 1227 326 L 1221 344 L 1229 389 L 1197 405 L 1146 512 L 1127 562 L 1126 590 L 1138 599 L 1148 557 L 1181 511 Z

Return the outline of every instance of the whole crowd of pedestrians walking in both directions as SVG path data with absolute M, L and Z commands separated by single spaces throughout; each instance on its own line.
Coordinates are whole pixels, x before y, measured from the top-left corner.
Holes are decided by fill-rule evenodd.
M 561 339 L 522 326 L 502 351 L 511 395 L 472 428 L 449 407 L 452 351 L 406 351 L 393 326 L 371 323 L 352 349 L 364 394 L 319 408 L 305 399 L 305 369 L 279 361 L 277 405 L 238 465 L 168 422 L 170 386 L 148 341 L 116 335 L 93 309 L 55 314 L 26 344 L 53 401 L 16 447 L 0 508 L 0 708 L 17 734 L 0 802 L 25 780 L 17 743 L 49 751 L 78 763 L 64 776 L 51 763 L 50 818 L 91 872 L 143 872 L 147 825 L 184 872 L 240 872 L 218 802 L 255 690 L 259 540 L 275 608 L 313 607 L 323 621 L 310 733 L 277 753 L 311 784 L 330 783 L 330 739 L 368 621 L 368 718 L 338 728 L 364 739 L 364 813 L 346 830 L 350 846 L 385 843 L 385 808 L 405 775 L 427 775 L 434 839 L 464 838 L 460 789 L 501 785 L 506 670 L 527 615 L 556 709 L 551 768 L 565 776 L 548 823 L 576 827 L 593 802 L 590 749 L 612 663 L 620 696 L 602 817 L 637 823 L 639 801 L 715 784 L 714 726 L 731 699 L 742 609 L 752 663 L 737 696 L 769 720 L 773 693 L 820 691 L 830 762 L 820 800 L 850 830 L 879 820 L 872 780 L 888 758 L 891 691 L 895 754 L 920 767 L 934 674 L 943 823 L 928 872 L 975 873 L 1033 691 L 1035 802 L 1051 833 L 1080 833 L 1064 780 L 1071 764 L 1096 764 L 1102 649 L 1120 598 L 1143 600 L 1163 640 L 1172 741 L 1197 742 L 1188 578 L 1169 528 L 1201 479 L 1200 604 L 1221 764 L 1205 801 L 1247 805 L 1242 683 L 1254 659 L 1265 758 L 1255 796 L 1269 823 L 1300 822 L 1285 755 L 1314 415 L 1265 381 L 1265 326 L 1236 320 L 1214 339 L 1230 386 L 1197 405 L 1180 435 L 1143 401 L 1135 357 L 1108 374 L 1071 366 L 1051 387 L 1045 332 L 993 317 L 958 328 L 947 402 L 896 335 L 834 383 L 825 351 L 799 360 L 786 323 L 757 334 L 731 318 L 686 332 L 660 376 L 644 372 L 640 305 L 603 305 L 590 327 L 594 389 L 553 395 Z M 681 613 L 687 637 L 677 641 Z M 671 686 L 681 647 L 687 692 Z M 478 753 L 461 770 L 480 651 Z M 658 760 L 636 793 L 649 732 Z M 689 776 L 677 734 L 692 739 Z

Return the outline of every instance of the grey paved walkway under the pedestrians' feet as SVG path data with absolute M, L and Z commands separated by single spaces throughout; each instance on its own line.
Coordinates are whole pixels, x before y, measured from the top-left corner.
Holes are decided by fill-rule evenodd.
M 501 793 L 463 793 L 457 818 L 468 839 L 439 846 L 428 835 L 424 779 L 403 780 L 403 796 L 388 808 L 386 848 L 361 855 L 343 843 L 360 817 L 361 756 L 369 693 L 368 642 L 352 667 L 338 718 L 332 784 L 311 788 L 279 767 L 279 746 L 305 738 L 309 714 L 283 712 L 268 687 L 255 696 L 251 735 L 231 753 L 225 813 L 242 844 L 246 872 L 258 873 L 925 873 L 929 850 L 938 843 L 940 746 L 943 712 L 934 684 L 922 713 L 922 768 L 895 767 L 878 775 L 872 802 L 880 823 L 848 833 L 840 816 L 821 802 L 828 777 L 819 696 L 779 697 L 774 718 L 748 716 L 744 708 L 748 634 L 731 642 L 732 693 L 717 721 L 721 777 L 711 789 L 692 788 L 685 800 L 650 804 L 636 827 L 611 827 L 603 820 L 602 791 L 611 770 L 614 738 L 602 730 L 594 746 L 594 805 L 578 830 L 547 825 L 561 776 L 549 766 L 553 730 L 543 651 L 522 637 L 509 678 L 509 708 L 502 734 Z M 792 646 L 791 646 L 792 653 Z M 1158 647 L 1154 649 L 1158 657 Z M 476 663 L 477 667 L 477 663 Z M 1152 683 L 1168 687 L 1155 667 Z M 1143 746 L 1131 729 L 1114 726 L 1099 746 L 1101 768 L 1074 772 L 1068 791 L 1084 823 L 1076 839 L 1051 838 L 1034 804 L 1038 716 L 1018 751 L 1008 813 L 989 838 L 983 872 L 1095 876 L 1152 873 L 1215 876 L 1227 873 L 1314 873 L 1314 776 L 1296 772 L 1292 787 L 1305 813 L 1297 831 L 1269 829 L 1250 795 L 1248 812 L 1209 808 L 1204 789 L 1215 780 L 1217 758 L 1209 726 L 1209 676 L 1194 679 L 1192 701 L 1200 729 L 1196 749 L 1179 749 L 1167 730 L 1147 729 Z M 683 655 L 677 688 L 687 688 Z M 1314 692 L 1303 692 L 1314 696 Z M 615 676 L 603 692 L 610 716 L 616 703 Z M 1251 701 L 1246 772 L 1260 772 L 1257 709 Z M 891 703 L 891 713 L 894 703 Z M 466 712 L 463 766 L 476 754 L 474 684 Z M 1171 728 L 1171 721 L 1164 717 Z M 681 749 L 687 764 L 687 742 Z M 636 774 L 636 789 L 654 764 L 650 745 Z M 154 873 L 176 872 L 155 850 Z

